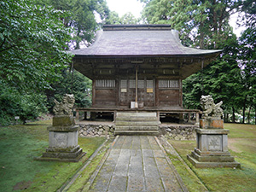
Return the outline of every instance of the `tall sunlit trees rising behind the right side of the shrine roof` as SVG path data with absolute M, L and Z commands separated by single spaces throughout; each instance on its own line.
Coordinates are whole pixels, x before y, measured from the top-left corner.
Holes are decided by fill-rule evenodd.
M 151 0 L 143 9 L 143 19 L 150 24 L 171 24 L 181 32 L 184 45 L 219 49 L 232 33 L 230 13 L 238 6 L 233 0 Z

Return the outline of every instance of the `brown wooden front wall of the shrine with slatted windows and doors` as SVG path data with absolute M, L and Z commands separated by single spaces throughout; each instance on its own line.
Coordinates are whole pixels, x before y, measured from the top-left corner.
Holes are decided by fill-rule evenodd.
M 133 77 L 95 79 L 92 107 L 130 108 L 131 102 L 135 102 L 135 94 Z M 181 79 L 139 79 L 138 102 L 143 102 L 144 108 L 182 107 Z

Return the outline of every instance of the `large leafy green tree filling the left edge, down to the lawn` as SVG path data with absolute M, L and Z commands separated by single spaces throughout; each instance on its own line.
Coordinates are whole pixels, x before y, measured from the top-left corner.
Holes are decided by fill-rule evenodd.
M 67 13 L 31 0 L 0 2 L 0 121 L 23 122 L 45 112 L 44 90 L 59 77 L 72 56 L 63 51 L 70 29 Z

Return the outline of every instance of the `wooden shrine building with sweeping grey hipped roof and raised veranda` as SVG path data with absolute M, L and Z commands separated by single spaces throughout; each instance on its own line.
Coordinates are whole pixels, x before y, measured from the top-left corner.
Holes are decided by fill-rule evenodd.
M 92 107 L 77 111 L 199 113 L 183 108 L 182 81 L 220 52 L 184 47 L 169 25 L 103 26 L 94 44 L 72 51 L 73 67 L 92 80 Z

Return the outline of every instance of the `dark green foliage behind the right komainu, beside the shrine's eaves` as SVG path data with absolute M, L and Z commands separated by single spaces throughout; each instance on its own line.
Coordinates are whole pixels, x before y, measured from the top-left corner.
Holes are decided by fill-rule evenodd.
M 225 112 L 242 103 L 241 69 L 236 57 L 238 42 L 233 35 L 223 44 L 223 54 L 199 73 L 183 80 L 183 102 L 187 108 L 199 108 L 201 95 L 212 95 L 215 102 L 223 101 Z

